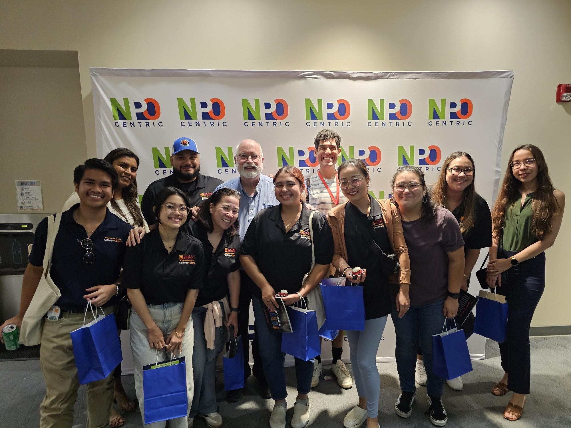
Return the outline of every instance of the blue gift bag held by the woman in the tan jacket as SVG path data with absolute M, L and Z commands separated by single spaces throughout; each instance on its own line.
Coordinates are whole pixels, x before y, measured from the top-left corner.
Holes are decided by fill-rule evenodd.
M 321 281 L 321 296 L 325 306 L 325 325 L 331 330 L 365 329 L 365 302 L 363 287 L 329 285 L 344 278 L 327 278 Z

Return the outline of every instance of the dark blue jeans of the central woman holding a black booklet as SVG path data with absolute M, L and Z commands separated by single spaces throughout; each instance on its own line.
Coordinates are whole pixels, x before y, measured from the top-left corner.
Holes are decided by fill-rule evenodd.
M 259 335 L 260 357 L 262 357 L 266 381 L 270 387 L 272 398 L 275 400 L 284 399 L 287 397 L 286 369 L 284 368 L 286 354 L 282 352 L 282 334 L 287 333 L 270 333 L 262 310 L 262 304 L 255 296 L 252 296 L 252 308 L 254 309 L 256 332 Z M 295 358 L 297 392 L 300 394 L 307 394 L 311 391 L 313 361 L 303 361 Z

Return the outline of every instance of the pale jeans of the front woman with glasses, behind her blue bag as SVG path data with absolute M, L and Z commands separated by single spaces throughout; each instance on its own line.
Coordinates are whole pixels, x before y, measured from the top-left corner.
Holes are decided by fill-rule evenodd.
M 148 310 L 151 313 L 153 321 L 159 326 L 163 332 L 164 338 L 171 334 L 172 330 L 176 328 L 180 321 L 182 314 L 182 303 L 166 303 L 164 305 L 148 305 Z M 147 328 L 143 321 L 139 318 L 135 309 L 131 312 L 131 349 L 133 352 L 133 365 L 135 371 L 135 392 L 139 399 L 139 407 L 141 418 L 143 419 L 143 426 L 148 428 L 164 428 L 165 421 L 149 423 L 144 425 L 144 398 L 143 398 L 143 366 L 148 364 L 155 364 L 156 362 L 156 349 L 151 348 L 147 340 Z M 184 337 L 182 341 L 182 356 L 185 357 L 186 362 L 186 388 L 188 406 L 192 402 L 192 392 L 194 390 L 194 382 L 192 378 L 192 345 L 193 345 L 194 330 L 192 329 L 192 318 L 188 320 L 186 330 L 184 330 Z M 178 354 L 177 354 L 178 356 Z M 166 349 L 159 350 L 159 362 L 170 360 L 170 353 L 167 356 Z M 170 419 L 170 428 L 187 428 L 188 418 Z

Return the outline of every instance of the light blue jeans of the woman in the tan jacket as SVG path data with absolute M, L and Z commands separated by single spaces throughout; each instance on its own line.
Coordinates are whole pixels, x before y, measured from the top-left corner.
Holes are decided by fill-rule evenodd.
M 373 320 L 365 320 L 365 329 L 359 331 L 345 331 L 351 350 L 351 369 L 355 376 L 355 385 L 359 397 L 367 399 L 367 416 L 376 418 L 379 413 L 379 393 L 381 381 L 377 369 L 377 350 L 383 337 L 385 315 Z

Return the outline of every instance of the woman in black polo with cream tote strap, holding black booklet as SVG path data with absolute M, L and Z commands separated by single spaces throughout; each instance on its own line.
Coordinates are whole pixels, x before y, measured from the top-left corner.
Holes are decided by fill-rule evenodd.
M 256 214 L 240 245 L 240 263 L 257 285 L 252 289 L 252 306 L 264 373 L 275 400 L 270 426 L 282 427 L 286 426 L 287 410 L 282 333 L 268 331 L 262 304 L 274 308 L 275 294 L 280 290 L 289 294 L 283 297 L 286 305 L 299 301 L 300 296 L 307 296 L 327 275 L 333 256 L 333 239 L 325 216 L 316 212 L 312 219 L 315 247 L 315 265 L 312 268 L 311 211 L 305 208 L 303 174 L 295 167 L 282 167 L 274 177 L 274 185 L 279 205 L 264 208 Z M 308 393 L 311 390 L 313 360 L 295 358 L 295 371 L 297 399 L 291 425 L 301 428 L 309 421 Z

